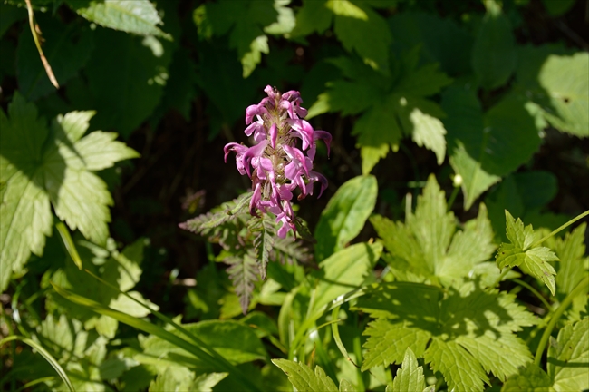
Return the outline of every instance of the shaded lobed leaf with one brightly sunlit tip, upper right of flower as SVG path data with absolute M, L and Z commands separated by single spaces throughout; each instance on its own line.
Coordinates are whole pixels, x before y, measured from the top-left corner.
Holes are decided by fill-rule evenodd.
M 326 112 L 362 113 L 352 134 L 358 136 L 362 173 L 368 174 L 389 150 L 397 151 L 405 136 L 435 152 L 441 164 L 446 155 L 445 117 L 438 103 L 427 97 L 439 93 L 451 79 L 437 64 L 418 66 L 419 46 L 401 59 L 399 74 L 385 76 L 357 60 L 333 59 L 345 79 L 327 83 L 309 109 L 309 116 Z M 356 64 L 354 64 L 356 63 Z M 359 69 L 363 72 L 358 72 Z

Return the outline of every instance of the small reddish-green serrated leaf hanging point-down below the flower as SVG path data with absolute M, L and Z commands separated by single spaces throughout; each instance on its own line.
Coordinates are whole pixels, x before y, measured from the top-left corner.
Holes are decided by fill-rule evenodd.
M 249 303 L 254 292 L 254 283 L 257 281 L 258 267 L 256 258 L 246 253 L 243 256 L 231 256 L 224 260 L 229 265 L 227 273 L 236 289 L 239 304 L 244 314 L 247 313 Z

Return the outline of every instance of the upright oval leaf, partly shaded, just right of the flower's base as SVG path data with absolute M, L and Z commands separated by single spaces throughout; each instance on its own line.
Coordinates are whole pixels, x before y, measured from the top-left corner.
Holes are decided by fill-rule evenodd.
M 327 203 L 315 229 L 315 259 L 324 260 L 353 240 L 376 204 L 378 185 L 372 175 L 346 181 Z

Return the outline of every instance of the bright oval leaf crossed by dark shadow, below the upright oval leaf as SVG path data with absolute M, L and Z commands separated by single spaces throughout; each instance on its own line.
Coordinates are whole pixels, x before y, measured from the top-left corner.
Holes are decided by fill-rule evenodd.
M 319 282 L 314 289 L 313 309 L 320 309 L 342 294 L 360 287 L 382 253 L 382 244 L 358 243 L 333 253 L 319 263 Z

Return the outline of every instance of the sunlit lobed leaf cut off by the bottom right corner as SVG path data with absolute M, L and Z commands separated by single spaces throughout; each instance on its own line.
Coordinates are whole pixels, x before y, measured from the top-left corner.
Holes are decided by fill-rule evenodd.
M 568 392 L 589 389 L 589 319 L 567 324 L 551 338 L 547 373 L 529 364 L 507 379 L 501 391 Z

